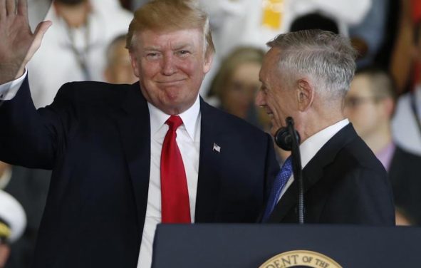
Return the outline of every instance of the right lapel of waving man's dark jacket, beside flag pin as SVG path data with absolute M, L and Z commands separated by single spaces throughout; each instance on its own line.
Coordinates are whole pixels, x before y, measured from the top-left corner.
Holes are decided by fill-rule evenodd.
M 220 164 L 221 153 L 213 150 L 214 143 L 217 145 L 222 135 L 218 120 L 211 107 L 200 98 L 201 130 L 200 130 L 200 153 L 199 175 L 197 182 L 196 215 L 194 222 L 213 222 L 217 210 L 217 197 L 220 187 Z M 224 150 L 224 148 L 222 148 Z

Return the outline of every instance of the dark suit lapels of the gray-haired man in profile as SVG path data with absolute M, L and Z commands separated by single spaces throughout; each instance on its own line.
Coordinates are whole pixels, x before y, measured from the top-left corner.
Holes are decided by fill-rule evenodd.
M 339 150 L 357 137 L 352 124 L 345 125 L 311 158 L 303 168 L 304 194 L 323 177 L 323 168 L 333 162 Z M 298 182 L 293 181 L 274 208 L 268 222 L 281 222 L 298 202 Z M 306 199 L 304 198 L 304 205 Z M 304 219 L 305 220 L 305 219 Z M 297 218 L 298 222 L 298 218 Z

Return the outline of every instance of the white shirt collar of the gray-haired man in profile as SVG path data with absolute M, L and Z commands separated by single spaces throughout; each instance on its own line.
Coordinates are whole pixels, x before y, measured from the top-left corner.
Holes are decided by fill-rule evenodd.
M 328 126 L 323 130 L 320 130 L 318 133 L 312 135 L 311 137 L 304 140 L 304 142 L 300 145 L 300 153 L 301 153 L 301 165 L 304 168 L 308 162 L 310 162 L 311 158 L 316 155 L 318 150 L 320 150 L 325 143 L 330 140 L 333 135 L 339 132 L 345 125 L 348 125 L 349 120 L 343 119 L 338 123 Z

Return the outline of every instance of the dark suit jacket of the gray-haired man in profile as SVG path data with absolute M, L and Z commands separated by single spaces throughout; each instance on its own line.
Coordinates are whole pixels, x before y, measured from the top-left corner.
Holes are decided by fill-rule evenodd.
M 323 145 L 303 177 L 306 223 L 395 225 L 386 171 L 351 124 Z M 298 222 L 297 185 L 294 180 L 269 222 Z

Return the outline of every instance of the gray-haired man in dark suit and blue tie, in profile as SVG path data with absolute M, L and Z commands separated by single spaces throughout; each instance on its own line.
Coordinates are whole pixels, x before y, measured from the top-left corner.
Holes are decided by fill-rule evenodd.
M 271 134 L 295 120 L 301 136 L 304 222 L 395 225 L 385 169 L 343 115 L 355 70 L 348 38 L 329 31 L 285 33 L 268 43 L 256 105 Z M 263 222 L 298 222 L 298 182 L 288 158 L 272 186 Z

